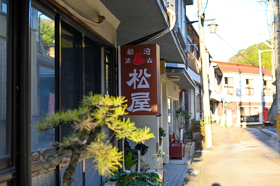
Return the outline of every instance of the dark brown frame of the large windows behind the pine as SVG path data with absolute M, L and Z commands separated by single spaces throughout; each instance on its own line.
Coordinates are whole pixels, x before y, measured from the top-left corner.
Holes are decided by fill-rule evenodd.
M 116 69 L 116 62 L 115 62 L 115 52 L 116 49 L 115 47 L 105 41 L 104 38 L 102 38 L 100 35 L 96 34 L 94 31 L 89 30 L 89 27 L 86 27 L 85 25 L 82 25 L 81 23 L 77 22 L 76 20 L 73 20 L 73 18 L 71 17 L 71 15 L 67 15 L 67 13 L 59 10 L 58 8 L 56 8 L 53 4 L 51 4 L 50 2 L 45 2 L 44 4 L 43 2 L 39 1 L 39 0 L 32 0 L 31 1 L 31 5 L 32 7 L 36 7 L 36 9 L 40 10 L 40 11 L 48 11 L 51 12 L 54 16 L 55 16 L 55 84 L 56 84 L 56 91 L 55 91 L 55 108 L 57 110 L 61 110 L 61 30 L 62 30 L 62 20 L 69 24 L 71 27 L 73 27 L 74 29 L 76 29 L 77 31 L 82 33 L 82 71 L 80 73 L 82 73 L 82 96 L 86 95 L 85 93 L 85 78 L 84 78 L 84 68 L 85 68 L 85 36 L 88 37 L 89 39 L 91 39 L 92 41 L 96 42 L 97 44 L 99 44 L 100 46 L 100 51 L 110 51 L 110 55 L 111 55 L 111 82 L 110 82 L 110 87 L 111 87 L 111 95 L 116 96 L 117 95 L 117 69 Z M 100 37 L 100 38 L 99 38 Z M 104 60 L 102 60 L 102 58 L 100 58 L 100 62 L 101 64 L 104 63 Z M 105 64 L 106 65 L 106 64 Z M 106 70 L 106 69 L 105 69 Z M 106 75 L 106 73 L 105 73 Z M 103 77 L 101 77 L 101 80 L 103 79 Z M 101 83 L 101 82 L 100 82 Z M 103 85 L 101 85 L 103 86 Z M 56 130 L 56 139 L 58 141 L 61 141 L 62 136 L 61 136 L 61 127 L 58 127 Z M 115 139 L 115 137 L 112 138 L 112 141 L 109 144 L 106 144 L 106 147 L 112 147 L 113 145 L 117 144 L 117 141 Z M 31 149 L 30 149 L 31 150 Z M 31 152 L 31 151 L 30 151 Z M 46 149 L 45 153 L 50 153 L 50 154 L 54 154 L 56 152 L 56 148 L 49 148 Z M 86 156 L 86 154 L 83 152 L 81 154 L 81 156 Z M 32 172 L 32 176 L 36 175 L 36 172 L 40 171 L 42 165 L 38 160 L 33 160 L 31 162 L 32 167 L 31 167 L 31 172 Z M 58 168 L 60 166 L 57 166 L 54 169 L 57 169 L 58 171 L 60 171 L 60 168 Z

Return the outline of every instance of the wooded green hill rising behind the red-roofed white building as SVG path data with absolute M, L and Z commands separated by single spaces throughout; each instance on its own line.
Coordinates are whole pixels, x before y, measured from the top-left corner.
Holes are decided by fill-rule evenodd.
M 255 64 L 259 65 L 259 50 L 269 50 L 270 48 L 264 43 L 254 44 L 247 49 L 239 50 L 238 54 L 231 57 L 228 61 L 234 63 L 243 63 L 243 64 Z M 242 57 L 242 55 L 244 57 Z M 245 59 L 246 58 L 246 59 Z M 261 62 L 264 68 L 271 70 L 271 53 L 262 52 L 261 53 Z

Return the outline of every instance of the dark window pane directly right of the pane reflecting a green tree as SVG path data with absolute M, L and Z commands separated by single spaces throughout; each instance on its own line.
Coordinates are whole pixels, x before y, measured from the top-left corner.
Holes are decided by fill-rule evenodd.
M 82 33 L 62 21 L 61 29 L 61 109 L 78 108 L 82 99 Z M 70 125 L 61 127 L 68 135 Z

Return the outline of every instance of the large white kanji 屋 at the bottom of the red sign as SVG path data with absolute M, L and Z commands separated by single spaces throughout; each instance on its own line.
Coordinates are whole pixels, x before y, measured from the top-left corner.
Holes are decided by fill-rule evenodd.
M 130 107 L 127 108 L 129 112 L 136 111 L 149 111 L 151 112 L 152 108 L 149 108 L 149 98 L 150 92 L 137 92 L 131 94 L 132 103 Z

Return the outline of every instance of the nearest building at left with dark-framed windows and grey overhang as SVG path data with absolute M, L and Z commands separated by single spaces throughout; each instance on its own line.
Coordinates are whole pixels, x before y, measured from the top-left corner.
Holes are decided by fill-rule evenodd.
M 142 42 L 160 47 L 161 116 L 132 120 L 154 132 L 156 138 L 147 141 L 149 152 L 161 148 L 168 154 L 168 136 L 158 146 L 158 128 L 177 130 L 173 110 L 179 91 L 195 87 L 186 69 L 188 45 L 181 42 L 187 35 L 188 4 L 192 0 L 0 0 L 0 185 L 43 185 L 42 180 L 61 185 L 67 165 L 38 175 L 42 164 L 32 153 L 43 148 L 54 153 L 49 144 L 61 141 L 71 126 L 38 135 L 36 125 L 46 114 L 77 108 L 89 91 L 118 95 L 117 46 L 140 44 L 137 40 L 145 36 Z M 178 14 L 168 11 L 171 7 Z M 175 30 L 173 18 L 180 26 Z M 165 71 L 165 63 L 179 68 Z M 113 138 L 107 147 L 122 145 Z M 82 154 L 72 185 L 100 185 L 105 176 L 93 174 L 93 158 Z

